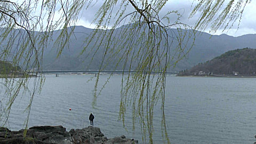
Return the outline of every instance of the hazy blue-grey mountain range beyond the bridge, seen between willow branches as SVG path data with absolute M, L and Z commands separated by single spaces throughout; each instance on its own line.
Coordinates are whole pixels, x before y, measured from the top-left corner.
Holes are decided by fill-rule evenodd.
M 125 25 L 122 27 L 130 27 L 129 25 Z M 122 27 L 119 27 L 115 29 L 114 33 L 118 35 L 120 31 L 122 30 Z M 71 28 L 71 27 L 70 27 Z M 69 29 L 70 29 L 69 28 Z M 75 26 L 74 33 L 71 34 L 68 42 L 68 46 L 65 46 L 62 50 L 62 53 L 60 57 L 57 58 L 58 55 L 58 46 L 54 45 L 54 42 L 58 38 L 60 34 L 60 30 L 55 30 L 52 33 L 51 40 L 49 41 L 49 44 L 47 47 L 44 47 L 44 53 L 43 53 L 43 62 L 42 62 L 42 68 L 43 70 L 98 70 L 101 65 L 102 57 L 104 55 L 105 47 L 100 46 L 97 50 L 97 53 L 93 55 L 93 53 L 96 50 L 92 50 L 92 54 L 88 54 L 88 51 L 85 51 L 83 54 L 81 52 L 84 50 L 84 47 L 86 45 L 85 39 L 86 37 L 90 36 L 90 34 L 93 32 L 93 29 L 86 28 L 83 26 Z M 182 30 L 181 30 L 182 31 Z M 189 30 L 188 30 L 189 31 Z M 191 30 L 190 30 L 191 31 Z M 37 32 L 36 32 L 37 33 Z M 167 31 L 169 35 L 172 34 L 178 34 L 177 29 L 169 29 Z M 182 33 L 185 33 L 184 30 Z M 10 35 L 11 36 L 11 35 Z M 194 46 L 189 51 L 188 55 L 186 55 L 185 58 L 180 60 L 175 67 L 170 67 L 167 69 L 167 71 L 180 71 L 184 69 L 190 69 L 191 67 L 197 65 L 198 63 L 205 62 L 207 60 L 211 60 L 222 53 L 225 53 L 230 50 L 235 49 L 241 49 L 243 47 L 249 47 L 252 49 L 256 48 L 256 34 L 247 34 L 243 36 L 233 37 L 226 34 L 222 35 L 210 35 L 208 33 L 199 32 L 197 31 L 195 35 L 195 39 L 185 37 L 188 39 L 188 47 L 193 44 Z M 19 43 L 19 39 L 15 39 L 14 43 Z M 1 43 L 1 47 L 4 47 L 6 42 L 3 41 Z M 97 39 L 92 39 L 92 42 L 89 44 L 89 49 L 93 47 L 93 44 L 97 43 Z M 106 43 L 106 41 L 103 41 L 103 43 Z M 172 46 L 170 52 L 171 54 L 175 53 L 175 46 L 179 44 L 178 41 L 172 42 Z M 13 50 L 18 50 L 18 47 L 16 47 Z M 134 47 L 135 49 L 136 47 Z M 117 61 L 121 58 L 122 51 L 119 52 L 119 55 L 115 55 L 114 58 L 112 58 L 113 61 Z M 93 60 L 92 60 L 93 57 Z M 171 62 L 174 62 L 174 60 Z M 7 59 L 8 60 L 8 59 Z M 130 59 L 129 59 L 130 60 Z M 123 61 L 122 61 L 123 62 Z M 119 66 L 116 66 L 115 63 L 112 62 L 106 62 L 107 65 L 104 68 L 105 70 L 122 70 L 123 69 L 123 63 L 119 63 Z M 22 63 L 22 62 L 21 62 Z M 103 63 L 103 64 L 106 64 Z M 138 65 L 137 61 L 133 61 L 133 67 L 131 69 L 134 69 L 136 65 Z M 172 64 L 172 63 L 171 63 Z M 21 65 L 22 67 L 22 65 Z M 127 69 L 127 66 L 126 66 Z

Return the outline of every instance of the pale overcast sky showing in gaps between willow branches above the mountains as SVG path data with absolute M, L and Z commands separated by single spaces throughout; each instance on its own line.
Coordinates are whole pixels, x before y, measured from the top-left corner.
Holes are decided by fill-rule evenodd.
M 81 18 L 77 22 L 77 26 L 84 26 L 87 28 L 94 28 L 95 25 L 91 25 L 92 20 L 94 19 L 94 14 L 97 12 L 100 7 L 102 1 L 98 1 L 96 5 L 90 7 L 90 9 L 84 10 Z M 193 0 L 171 0 L 166 3 L 163 7 L 162 13 L 172 10 L 178 10 L 180 13 L 183 13 L 183 17 L 181 19 L 182 22 L 187 23 L 190 26 L 193 26 L 197 20 L 197 17 L 192 19 L 188 19 L 189 14 L 193 7 L 191 4 Z M 131 7 L 132 9 L 132 7 Z M 199 13 L 197 14 L 199 15 Z M 196 15 L 196 16 L 197 16 Z M 205 30 L 206 33 L 209 33 L 209 29 Z M 231 35 L 231 36 L 241 36 L 245 34 L 256 34 L 256 1 L 252 1 L 245 7 L 245 11 L 243 13 L 242 21 L 239 25 L 239 29 L 237 30 L 237 25 L 228 31 L 224 31 L 223 33 Z M 218 30 L 215 35 L 222 34 L 222 30 Z

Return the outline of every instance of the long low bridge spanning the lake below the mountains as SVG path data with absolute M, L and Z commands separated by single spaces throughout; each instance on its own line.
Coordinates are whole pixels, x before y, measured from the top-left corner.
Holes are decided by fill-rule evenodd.
M 43 73 L 43 74 L 59 74 L 59 73 L 85 73 L 85 74 L 98 74 L 98 73 L 107 73 L 107 74 L 128 74 L 142 72 L 146 73 L 149 71 L 135 71 L 135 70 L 42 70 L 42 71 L 29 71 L 30 74 Z M 163 73 L 162 71 L 152 71 L 151 74 Z M 178 74 L 177 72 L 167 71 L 166 74 Z

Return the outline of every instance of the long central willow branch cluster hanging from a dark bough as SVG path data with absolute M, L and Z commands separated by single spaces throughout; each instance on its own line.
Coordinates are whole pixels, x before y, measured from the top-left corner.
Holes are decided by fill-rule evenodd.
M 94 20 L 98 20 L 97 26 L 83 50 L 87 55 L 95 55 L 99 49 L 104 49 L 100 70 L 111 63 L 116 67 L 122 65 L 123 70 L 138 71 L 128 75 L 123 73 L 119 120 L 125 127 L 126 107 L 130 105 L 133 108 L 133 130 L 135 122 L 139 121 L 142 140 L 148 139 L 150 143 L 153 143 L 154 106 L 159 99 L 163 113 L 163 138 L 170 143 L 164 115 L 166 71 L 186 57 L 194 44 L 193 41 L 188 44 L 188 41 L 195 38 L 195 31 L 178 21 L 182 16 L 178 11 L 170 11 L 162 18 L 159 17 L 158 13 L 164 4 L 130 0 L 121 3 L 105 1 Z M 125 14 L 129 6 L 134 11 Z M 115 7 L 120 8 L 113 14 Z M 172 15 L 177 19 L 171 20 Z M 111 18 L 115 23 L 110 26 Z M 100 94 L 98 82 L 99 74 L 93 91 L 93 107 L 97 107 Z

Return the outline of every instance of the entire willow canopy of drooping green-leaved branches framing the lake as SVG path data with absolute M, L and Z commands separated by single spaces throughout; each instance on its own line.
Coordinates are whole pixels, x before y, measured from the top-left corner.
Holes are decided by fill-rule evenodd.
M 161 13 L 167 0 L 0 0 L 0 60 L 10 62 L 14 68 L 22 68 L 20 71 L 23 74 L 20 78 L 10 78 L 17 75 L 18 70 L 15 69 L 1 74 L 4 77 L 1 85 L 6 95 L 0 101 L 2 124 L 7 124 L 12 104 L 20 92 L 26 92 L 30 97 L 27 107 L 29 114 L 34 95 L 40 92 L 44 77 L 40 74 L 37 78 L 30 78 L 28 72 L 42 70 L 42 56 L 45 47 L 51 42 L 53 30 L 60 29 L 59 37 L 54 42 L 59 56 L 63 48 L 68 46 L 69 37 L 74 35 L 74 27 L 70 26 L 76 25 L 83 10 L 100 2 L 102 5 L 92 22 L 95 29 L 85 39 L 87 45 L 81 57 L 94 55 L 99 47 L 104 47 L 100 70 L 111 64 L 122 65 L 123 70 L 137 71 L 122 79 L 119 119 L 125 126 L 126 107 L 131 106 L 133 128 L 135 121 L 139 121 L 142 140 L 148 138 L 153 143 L 153 111 L 157 101 L 160 101 L 163 138 L 170 143 L 164 115 L 167 68 L 186 57 L 193 46 L 188 40 L 195 38 L 195 30 L 211 27 L 214 33 L 220 28 L 232 27 L 236 21 L 241 21 L 245 6 L 250 1 L 193 1 L 195 7 L 190 18 L 196 13 L 201 15 L 195 26 L 188 26 L 180 21 L 182 14 L 177 10 Z M 121 57 L 117 59 L 117 55 Z M 101 92 L 98 80 L 99 75 L 92 94 L 93 107 L 97 106 Z M 33 83 L 34 87 L 29 89 L 28 83 Z M 26 126 L 28 119 L 29 115 Z

